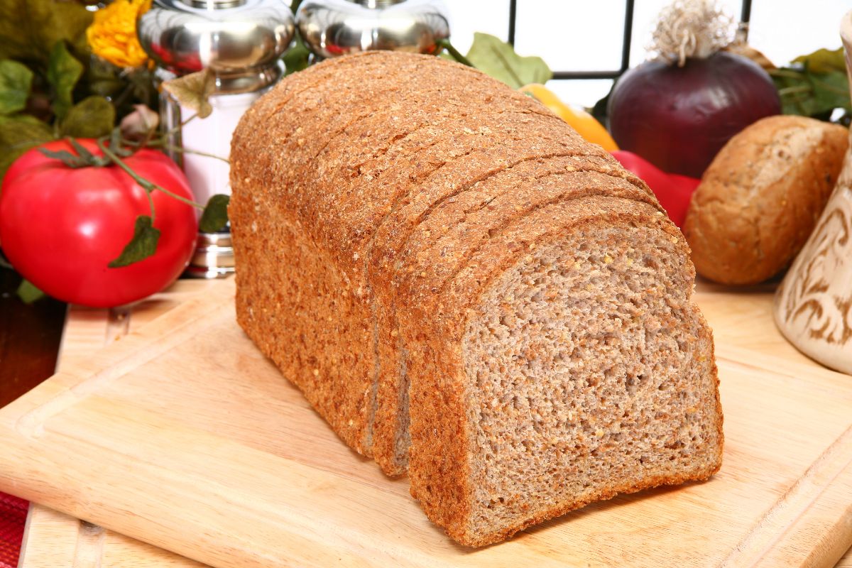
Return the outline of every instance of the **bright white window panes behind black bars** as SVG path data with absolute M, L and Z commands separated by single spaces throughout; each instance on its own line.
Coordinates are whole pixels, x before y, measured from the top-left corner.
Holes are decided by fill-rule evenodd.
M 445 0 L 452 43 L 466 53 L 474 32 L 509 36 L 509 0 Z M 646 59 L 659 9 L 671 0 L 636 0 L 630 66 Z M 621 65 L 624 0 L 517 0 L 515 49 L 540 55 L 554 71 L 617 70 Z M 740 18 L 740 0 L 719 5 Z M 840 20 L 852 0 L 752 0 L 749 43 L 777 66 L 819 48 L 840 47 Z M 591 106 L 608 80 L 551 81 L 562 100 Z

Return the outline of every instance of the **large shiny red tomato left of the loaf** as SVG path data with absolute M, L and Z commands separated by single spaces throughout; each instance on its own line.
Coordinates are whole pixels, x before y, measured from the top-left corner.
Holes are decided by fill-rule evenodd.
M 83 146 L 100 155 L 95 141 Z M 72 150 L 66 141 L 44 144 Z M 124 162 L 138 175 L 193 199 L 187 178 L 163 153 L 141 150 Z M 129 267 L 109 268 L 133 236 L 137 215 L 150 215 L 147 194 L 118 166 L 72 169 L 33 148 L 18 158 L 0 190 L 0 244 L 40 290 L 84 306 L 112 307 L 164 289 L 187 266 L 198 232 L 193 207 L 152 194 L 160 230 L 157 252 Z

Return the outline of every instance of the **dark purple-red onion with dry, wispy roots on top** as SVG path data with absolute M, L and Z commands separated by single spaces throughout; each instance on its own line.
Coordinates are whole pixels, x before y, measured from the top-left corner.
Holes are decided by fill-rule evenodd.
M 621 149 L 701 177 L 731 136 L 781 112 L 769 74 L 720 51 L 730 24 L 712 0 L 664 9 L 653 34 L 659 60 L 630 69 L 609 96 L 610 132 Z

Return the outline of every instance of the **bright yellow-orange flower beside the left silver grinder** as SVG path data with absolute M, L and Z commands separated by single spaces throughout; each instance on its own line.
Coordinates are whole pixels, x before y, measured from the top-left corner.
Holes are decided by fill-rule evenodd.
M 119 67 L 141 66 L 147 60 L 136 38 L 136 19 L 151 8 L 151 0 L 115 0 L 95 12 L 86 38 L 95 55 Z

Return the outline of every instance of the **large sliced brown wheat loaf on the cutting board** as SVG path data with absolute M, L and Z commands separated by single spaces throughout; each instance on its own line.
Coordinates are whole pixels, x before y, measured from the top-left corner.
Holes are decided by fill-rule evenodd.
M 367 52 L 285 78 L 231 156 L 239 324 L 458 542 L 719 468 L 686 242 L 537 101 Z

